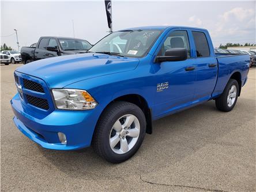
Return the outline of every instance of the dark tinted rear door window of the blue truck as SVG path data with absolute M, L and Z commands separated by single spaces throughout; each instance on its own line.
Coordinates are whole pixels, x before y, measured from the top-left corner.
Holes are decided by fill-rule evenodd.
M 197 31 L 193 31 L 192 33 L 195 42 L 195 49 L 197 50 L 197 57 L 209 57 L 210 50 L 205 33 Z

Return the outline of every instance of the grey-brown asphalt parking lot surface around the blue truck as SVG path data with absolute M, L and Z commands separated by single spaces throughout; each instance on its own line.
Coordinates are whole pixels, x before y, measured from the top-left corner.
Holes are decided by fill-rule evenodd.
M 153 122 L 130 160 L 47 150 L 12 121 L 13 71 L 1 65 L 2 191 L 255 191 L 256 69 L 231 112 L 214 101 Z

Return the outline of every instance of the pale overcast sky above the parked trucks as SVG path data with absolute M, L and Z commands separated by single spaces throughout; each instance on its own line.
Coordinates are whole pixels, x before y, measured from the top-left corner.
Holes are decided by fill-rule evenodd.
M 255 43 L 255 1 L 112 1 L 114 31 L 146 25 L 185 25 L 206 28 L 214 46 Z M 3 1 L 1 44 L 17 49 L 40 36 L 74 35 L 92 44 L 107 35 L 104 1 Z M 10 35 L 10 36 L 9 36 Z M 7 36 L 7 37 L 6 37 Z

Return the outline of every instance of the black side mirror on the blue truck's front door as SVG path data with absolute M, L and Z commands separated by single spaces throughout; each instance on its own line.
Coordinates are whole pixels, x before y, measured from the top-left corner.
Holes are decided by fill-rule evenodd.
M 155 62 L 164 61 L 185 61 L 187 59 L 186 48 L 170 48 L 166 50 L 164 56 L 157 56 Z

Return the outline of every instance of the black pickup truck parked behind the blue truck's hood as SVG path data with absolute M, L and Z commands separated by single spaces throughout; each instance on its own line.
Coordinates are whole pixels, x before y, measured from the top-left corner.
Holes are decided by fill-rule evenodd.
M 84 39 L 70 37 L 40 37 L 38 43 L 29 47 L 21 47 L 22 63 L 57 57 L 61 55 L 72 55 L 85 53 L 92 45 Z

